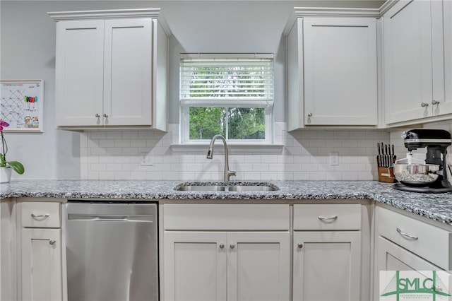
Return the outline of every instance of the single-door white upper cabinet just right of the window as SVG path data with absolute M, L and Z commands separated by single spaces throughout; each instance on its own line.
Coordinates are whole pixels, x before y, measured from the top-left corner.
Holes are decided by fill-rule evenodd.
M 288 130 L 378 124 L 376 17 L 340 13 L 287 26 Z

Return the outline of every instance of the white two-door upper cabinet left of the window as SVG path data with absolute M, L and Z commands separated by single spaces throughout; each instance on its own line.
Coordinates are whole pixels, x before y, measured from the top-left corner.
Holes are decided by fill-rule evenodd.
M 57 20 L 57 126 L 166 130 L 169 30 L 159 11 L 49 13 Z

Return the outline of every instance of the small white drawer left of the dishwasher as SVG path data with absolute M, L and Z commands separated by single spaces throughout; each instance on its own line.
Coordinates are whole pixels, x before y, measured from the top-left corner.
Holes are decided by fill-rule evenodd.
M 61 227 L 60 203 L 23 202 L 22 227 L 59 228 Z

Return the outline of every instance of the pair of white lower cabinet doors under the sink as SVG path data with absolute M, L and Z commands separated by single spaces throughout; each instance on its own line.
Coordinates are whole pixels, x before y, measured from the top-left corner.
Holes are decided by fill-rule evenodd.
M 289 232 L 165 232 L 165 300 L 288 300 Z

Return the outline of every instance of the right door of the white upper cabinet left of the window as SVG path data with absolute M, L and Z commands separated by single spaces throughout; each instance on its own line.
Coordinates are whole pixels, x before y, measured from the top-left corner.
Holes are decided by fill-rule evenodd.
M 151 125 L 153 22 L 105 20 L 105 125 Z

